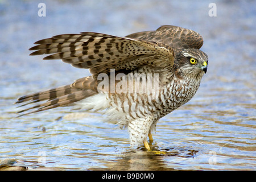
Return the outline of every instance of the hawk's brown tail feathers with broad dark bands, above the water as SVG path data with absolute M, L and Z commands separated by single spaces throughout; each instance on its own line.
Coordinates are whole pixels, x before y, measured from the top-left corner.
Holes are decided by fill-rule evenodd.
M 22 115 L 36 113 L 59 106 L 69 106 L 74 102 L 80 101 L 86 97 L 93 96 L 94 94 L 96 94 L 96 92 L 90 89 L 80 89 L 75 88 L 72 85 L 64 85 L 57 88 L 44 90 L 42 92 L 36 92 L 22 96 L 18 98 L 18 101 L 16 101 L 15 104 L 24 102 L 23 105 L 18 106 L 22 107 L 28 104 L 35 104 L 36 102 L 46 101 L 44 103 L 37 104 L 32 107 L 27 107 L 26 109 L 18 111 L 18 113 L 23 113 L 30 110 L 27 113 L 19 115 L 20 117 Z

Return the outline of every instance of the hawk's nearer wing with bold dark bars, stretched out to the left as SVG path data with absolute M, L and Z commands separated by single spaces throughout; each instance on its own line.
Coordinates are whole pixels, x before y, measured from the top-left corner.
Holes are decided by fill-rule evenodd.
M 35 42 L 30 55 L 52 54 L 44 59 L 61 59 L 77 68 L 89 68 L 93 78 L 110 69 L 133 70 L 143 64 L 166 68 L 174 64 L 174 51 L 163 43 L 81 32 Z

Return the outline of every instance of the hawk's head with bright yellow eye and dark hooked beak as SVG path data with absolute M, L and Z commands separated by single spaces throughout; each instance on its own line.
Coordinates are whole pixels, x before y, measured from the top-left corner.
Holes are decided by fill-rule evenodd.
M 203 77 L 207 72 L 208 56 L 199 49 L 183 49 L 174 60 L 174 68 L 181 77 Z

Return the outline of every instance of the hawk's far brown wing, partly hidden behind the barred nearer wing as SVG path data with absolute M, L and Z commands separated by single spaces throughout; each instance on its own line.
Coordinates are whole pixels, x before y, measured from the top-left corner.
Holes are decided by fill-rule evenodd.
M 203 46 L 203 37 L 187 28 L 177 26 L 161 26 L 156 31 L 144 31 L 126 36 L 127 38 L 136 38 L 150 42 L 161 42 L 177 49 L 196 48 Z

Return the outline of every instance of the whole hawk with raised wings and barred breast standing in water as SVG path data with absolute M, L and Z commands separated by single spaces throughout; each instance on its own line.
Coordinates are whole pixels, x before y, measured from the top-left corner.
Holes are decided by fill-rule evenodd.
M 156 123 L 191 100 L 208 65 L 207 54 L 199 50 L 202 36 L 177 26 L 125 37 L 95 32 L 56 35 L 35 44 L 30 55 L 50 54 L 44 60 L 61 59 L 92 75 L 18 98 L 16 104 L 35 104 L 18 113 L 59 106 L 102 111 L 127 127 L 132 147 L 144 144 L 148 151 L 147 137 L 153 140 Z

